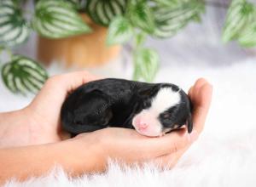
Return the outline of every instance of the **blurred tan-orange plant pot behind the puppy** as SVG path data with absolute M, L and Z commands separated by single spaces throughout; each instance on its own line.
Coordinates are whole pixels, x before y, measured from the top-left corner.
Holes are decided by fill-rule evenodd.
M 55 60 L 67 67 L 95 67 L 108 63 L 119 54 L 120 46 L 108 47 L 105 43 L 108 29 L 96 25 L 85 14 L 81 16 L 93 29 L 90 34 L 65 39 L 38 37 L 38 59 L 42 63 L 49 65 Z

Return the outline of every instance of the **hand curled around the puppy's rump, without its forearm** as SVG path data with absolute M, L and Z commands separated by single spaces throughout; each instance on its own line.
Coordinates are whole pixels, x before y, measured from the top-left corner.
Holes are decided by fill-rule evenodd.
M 67 94 L 73 92 L 82 84 L 95 81 L 100 77 L 91 75 L 88 71 L 77 71 L 50 77 L 44 87 L 28 105 L 26 110 L 32 114 L 32 124 L 43 130 L 37 134 L 42 141 L 55 142 L 63 139 L 61 131 L 61 105 L 67 98 Z M 36 129 L 37 130 L 37 129 Z M 37 132 L 35 132 L 37 133 Z

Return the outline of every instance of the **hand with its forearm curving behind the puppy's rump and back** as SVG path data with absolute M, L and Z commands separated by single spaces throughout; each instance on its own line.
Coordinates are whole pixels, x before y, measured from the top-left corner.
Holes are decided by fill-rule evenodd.
M 0 147 L 54 143 L 63 139 L 62 103 L 73 89 L 96 79 L 99 77 L 87 71 L 50 77 L 26 108 L 0 114 Z

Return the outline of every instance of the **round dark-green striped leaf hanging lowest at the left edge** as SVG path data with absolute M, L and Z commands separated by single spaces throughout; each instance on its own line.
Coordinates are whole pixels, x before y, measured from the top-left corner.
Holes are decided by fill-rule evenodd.
M 48 75 L 36 61 L 15 55 L 10 62 L 3 65 L 2 78 L 6 87 L 15 94 L 36 94 Z

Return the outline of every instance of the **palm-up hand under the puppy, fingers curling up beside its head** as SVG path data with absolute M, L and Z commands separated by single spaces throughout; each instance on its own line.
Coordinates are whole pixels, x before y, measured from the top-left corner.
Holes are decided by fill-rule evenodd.
M 102 150 L 97 160 L 98 163 L 102 163 L 98 166 L 100 170 L 104 169 L 108 158 L 121 160 L 127 164 L 153 161 L 160 167 L 173 167 L 204 127 L 212 99 L 212 86 L 205 79 L 197 80 L 189 90 L 189 98 L 194 105 L 194 129 L 191 134 L 182 128 L 160 138 L 148 138 L 132 129 L 110 127 L 79 134 L 75 139 L 81 146 L 85 142 L 99 144 Z

